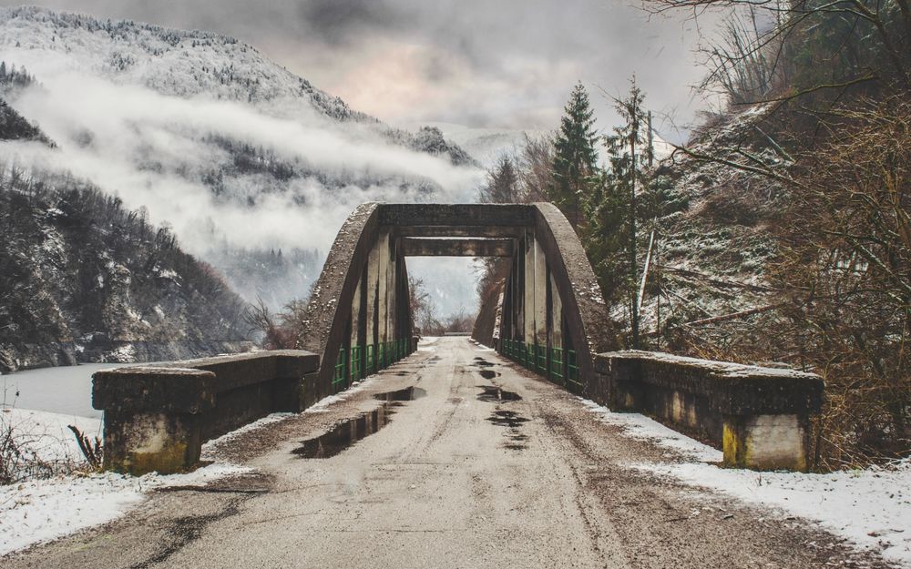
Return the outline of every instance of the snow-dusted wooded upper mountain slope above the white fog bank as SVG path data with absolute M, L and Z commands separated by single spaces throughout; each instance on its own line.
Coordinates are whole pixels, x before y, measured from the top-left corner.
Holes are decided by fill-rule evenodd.
M 147 86 L 179 97 L 245 101 L 289 114 L 307 107 L 337 120 L 376 122 L 339 97 L 312 86 L 238 40 L 210 32 L 181 31 L 100 20 L 35 6 L 0 9 L 0 48 L 15 50 L 19 65 L 54 65 Z

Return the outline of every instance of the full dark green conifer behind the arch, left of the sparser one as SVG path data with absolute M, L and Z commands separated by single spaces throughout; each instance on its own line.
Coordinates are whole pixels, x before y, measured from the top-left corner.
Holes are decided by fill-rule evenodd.
M 599 178 L 594 112 L 589 105 L 589 94 L 581 83 L 573 88 L 564 111 L 554 141 L 555 183 L 548 188 L 548 198 L 566 214 L 578 232 Z

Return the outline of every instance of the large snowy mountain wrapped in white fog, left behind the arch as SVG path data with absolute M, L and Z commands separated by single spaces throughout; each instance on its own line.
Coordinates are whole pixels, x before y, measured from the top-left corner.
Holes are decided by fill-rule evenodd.
M 439 129 L 389 127 L 228 36 L 2 8 L 0 61 L 34 77 L 7 100 L 57 145 L 0 156 L 147 211 L 273 309 L 358 203 L 471 200 L 483 176 Z

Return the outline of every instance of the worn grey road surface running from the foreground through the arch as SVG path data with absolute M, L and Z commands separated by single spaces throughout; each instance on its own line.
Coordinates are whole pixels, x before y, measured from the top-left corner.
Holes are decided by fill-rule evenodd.
M 247 433 L 223 449 L 227 459 L 246 462 L 259 475 L 206 491 L 154 494 L 117 523 L 0 564 L 885 567 L 807 529 L 808 523 L 630 468 L 673 458 L 599 422 L 566 391 L 466 339 L 435 346 L 328 412 Z M 479 399 L 495 384 L 522 400 Z M 381 431 L 333 458 L 293 453 L 304 439 L 379 405 L 371 391 L 408 385 L 426 396 L 395 408 Z

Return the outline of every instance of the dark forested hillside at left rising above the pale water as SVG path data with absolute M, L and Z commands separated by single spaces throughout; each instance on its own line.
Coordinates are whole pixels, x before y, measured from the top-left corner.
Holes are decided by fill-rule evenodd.
M 119 198 L 0 176 L 0 371 L 249 349 L 246 303 Z

